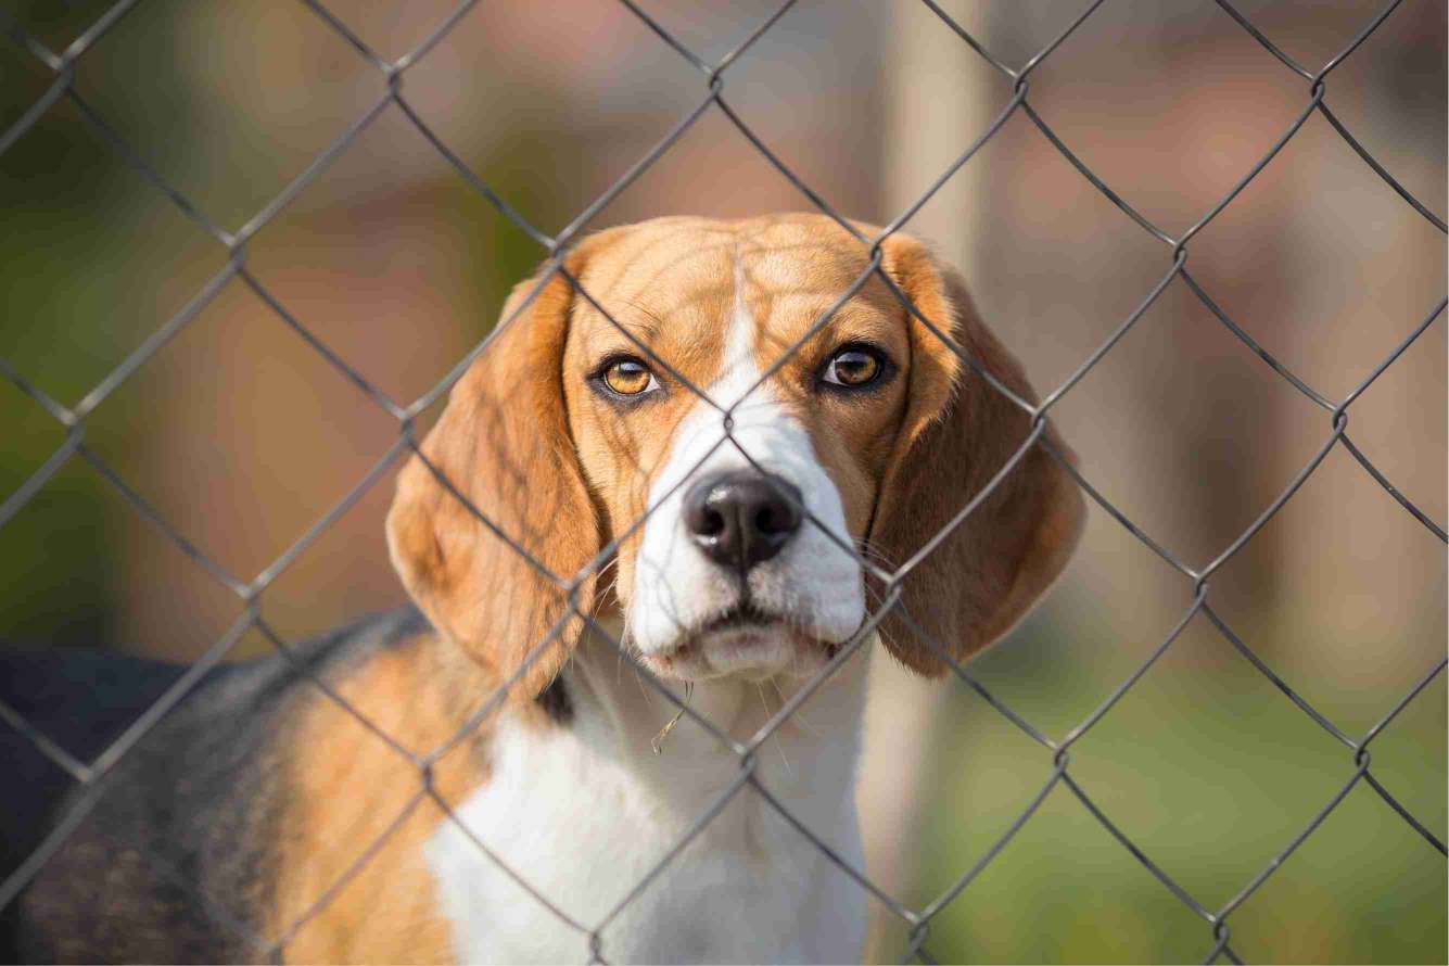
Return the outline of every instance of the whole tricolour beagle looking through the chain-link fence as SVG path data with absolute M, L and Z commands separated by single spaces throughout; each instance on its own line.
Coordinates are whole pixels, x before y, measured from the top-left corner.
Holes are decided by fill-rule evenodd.
M 416 610 L 213 675 L 33 881 L 25 953 L 858 960 L 867 895 L 800 831 L 861 866 L 848 646 L 942 673 L 1023 617 L 1082 520 L 1039 445 L 955 518 L 1032 432 L 961 359 L 1035 397 L 904 236 L 881 268 L 961 355 L 874 275 L 816 329 L 869 258 L 820 216 L 672 217 L 582 240 L 580 290 L 519 285 L 398 476 Z M 940 534 L 877 626 L 872 574 Z M 748 762 L 722 740 L 827 665 Z

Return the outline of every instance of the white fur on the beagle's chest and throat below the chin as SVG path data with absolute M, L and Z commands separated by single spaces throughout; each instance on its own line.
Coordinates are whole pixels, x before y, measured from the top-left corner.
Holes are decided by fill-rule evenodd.
M 861 865 L 853 801 L 864 702 L 858 653 L 759 749 L 755 773 L 800 823 Z M 487 784 L 456 808 L 540 895 L 600 931 L 609 962 L 856 962 L 865 896 L 751 786 L 743 786 L 642 892 L 622 902 L 740 773 L 740 760 L 674 714 L 597 643 L 580 646 L 567 727 L 503 720 Z M 778 708 L 772 684 L 700 684 L 690 705 L 746 740 Z M 451 823 L 426 846 L 459 962 L 587 962 L 561 921 Z M 611 915 L 611 918 L 610 918 Z M 607 923 L 606 923 L 607 920 Z

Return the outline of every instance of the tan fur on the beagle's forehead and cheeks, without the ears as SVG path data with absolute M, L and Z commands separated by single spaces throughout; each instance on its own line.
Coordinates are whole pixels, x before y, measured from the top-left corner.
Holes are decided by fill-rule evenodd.
M 869 339 L 906 358 L 900 304 L 872 278 L 826 326 L 794 348 L 868 265 L 865 249 L 839 226 L 816 216 L 778 216 L 742 223 L 659 219 L 603 236 L 581 281 L 635 339 L 696 388 L 717 379 L 735 307 L 736 285 L 755 320 L 761 371 L 788 353 L 768 387 L 809 429 L 846 507 L 852 533 L 864 534 L 900 420 L 903 381 L 871 404 L 819 397 L 814 374 L 843 342 Z M 617 240 L 616 240 L 617 239 Z M 736 278 L 736 272 L 739 278 Z M 575 306 L 565 350 L 564 391 L 584 475 L 619 533 L 646 510 L 646 495 L 668 455 L 669 439 L 698 397 L 685 387 L 620 417 L 582 375 L 610 352 L 646 358 L 597 308 Z M 665 378 L 661 366 L 655 366 Z M 633 585 L 635 532 L 619 555 L 617 587 Z M 627 602 L 627 601 L 626 601 Z

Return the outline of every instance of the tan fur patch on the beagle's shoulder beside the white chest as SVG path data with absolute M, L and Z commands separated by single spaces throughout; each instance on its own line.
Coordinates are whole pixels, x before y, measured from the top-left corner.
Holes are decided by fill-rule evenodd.
M 497 678 L 429 634 L 368 658 L 333 686 L 380 730 L 426 755 L 483 707 Z M 532 724 L 549 727 L 542 711 L 532 714 Z M 455 808 L 487 779 L 490 727 L 481 723 L 433 768 L 433 788 Z M 388 831 L 423 788 L 419 768 L 320 695 L 307 704 L 288 743 L 296 749 L 288 769 L 293 804 L 283 824 L 271 933 L 285 934 L 300 918 L 312 918 L 287 943 L 285 959 L 454 962 L 451 925 L 423 856 L 423 844 L 448 818 L 423 798 Z M 338 886 L 380 839 L 378 850 Z

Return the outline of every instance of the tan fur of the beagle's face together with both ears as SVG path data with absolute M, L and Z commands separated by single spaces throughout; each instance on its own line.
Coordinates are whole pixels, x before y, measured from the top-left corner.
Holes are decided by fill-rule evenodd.
M 884 252 L 887 272 L 942 332 L 1035 400 L 952 269 L 906 236 L 888 239 Z M 626 332 L 555 278 L 458 382 L 423 446 L 484 516 L 555 574 L 572 575 L 643 516 L 674 429 L 697 403 L 691 391 L 671 385 L 662 398 L 622 413 L 588 388 L 587 377 L 598 361 L 625 352 L 671 379 L 652 352 L 707 388 L 720 375 L 736 295 L 758 326 L 761 369 L 790 353 L 771 390 L 809 427 L 852 534 L 865 540 L 869 526 L 871 549 L 893 563 L 943 527 L 1030 432 L 1027 417 L 911 319 L 878 278 L 796 348 L 868 264 L 865 246 L 823 216 L 656 219 L 593 236 L 568 264 Z M 504 317 L 533 285 L 514 290 Z M 851 339 L 887 348 L 898 378 L 869 400 L 814 394 L 819 366 Z M 1055 432 L 1049 439 L 1069 452 Z M 1055 579 L 1081 518 L 1080 492 L 1035 448 L 906 581 L 913 620 L 958 658 L 995 640 Z M 517 668 L 564 613 L 558 589 L 417 459 L 400 479 L 388 536 L 404 582 L 435 624 L 500 673 Z M 622 598 L 633 584 L 639 539 L 640 529 L 625 536 L 609 579 Z M 591 589 L 581 595 L 585 605 Z M 556 673 L 577 624 L 538 662 L 520 694 L 538 694 Z M 932 647 L 904 621 L 893 617 L 884 630 L 903 662 L 923 673 L 940 671 Z

